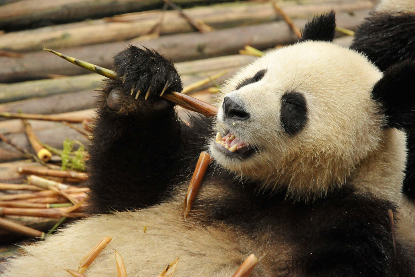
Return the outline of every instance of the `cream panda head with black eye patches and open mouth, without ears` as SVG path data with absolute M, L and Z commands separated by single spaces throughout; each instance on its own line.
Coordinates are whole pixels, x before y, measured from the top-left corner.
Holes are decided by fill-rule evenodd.
M 274 50 L 222 88 L 210 152 L 223 168 L 300 197 L 341 184 L 378 147 L 371 99 L 382 73 L 364 56 L 321 41 Z

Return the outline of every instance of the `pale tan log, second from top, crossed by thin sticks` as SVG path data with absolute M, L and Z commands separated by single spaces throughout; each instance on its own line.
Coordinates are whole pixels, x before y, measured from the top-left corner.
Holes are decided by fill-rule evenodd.
M 306 18 L 334 9 L 336 12 L 373 8 L 369 0 L 315 2 L 310 0 L 281 2 L 282 10 L 292 19 Z M 215 29 L 237 27 L 282 20 L 271 3 L 235 2 L 184 10 L 186 14 L 211 25 Z M 0 49 L 7 51 L 36 51 L 47 46 L 51 49 L 101 44 L 134 39 L 154 26 L 161 11 L 117 15 L 108 19 L 89 20 L 2 35 Z M 165 11 L 161 34 L 194 32 L 192 27 L 175 10 Z

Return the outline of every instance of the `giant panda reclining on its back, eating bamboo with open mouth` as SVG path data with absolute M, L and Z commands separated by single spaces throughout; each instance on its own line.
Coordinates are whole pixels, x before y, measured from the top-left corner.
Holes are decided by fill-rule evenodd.
M 297 44 L 227 81 L 216 118 L 185 123 L 158 97 L 182 89 L 173 64 L 149 49 L 118 53 L 122 81 L 100 93 L 89 150 L 99 215 L 27 246 L 2 276 L 68 276 L 104 236 L 112 241 L 86 276 L 115 276 L 113 249 L 128 276 L 157 276 L 178 257 L 175 277 L 232 276 L 251 253 L 253 277 L 415 276 L 402 191 L 415 63 L 380 70 L 333 44 L 334 31 L 334 12 L 315 17 Z M 200 151 L 213 160 L 183 219 Z

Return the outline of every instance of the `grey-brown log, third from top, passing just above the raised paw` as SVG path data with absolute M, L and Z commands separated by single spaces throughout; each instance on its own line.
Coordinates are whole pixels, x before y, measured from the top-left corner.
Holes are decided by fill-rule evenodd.
M 340 12 L 337 14 L 336 20 L 339 26 L 355 30 L 368 15 L 369 10 L 366 9 L 353 13 Z M 303 27 L 305 19 L 295 19 L 293 22 L 297 26 Z M 209 33 L 161 36 L 157 39 L 133 44 L 153 48 L 173 62 L 178 62 L 237 54 L 246 45 L 265 50 L 273 48 L 277 44 L 289 44 L 297 40 L 298 37 L 286 22 L 271 22 L 216 30 Z M 113 42 L 64 49 L 59 52 L 111 69 L 112 55 L 125 49 L 128 44 L 130 43 L 127 41 Z M 30 53 L 20 59 L 2 57 L 0 64 L 2 64 L 0 82 L 3 83 L 45 78 L 47 74 L 76 75 L 88 72 L 83 68 L 74 68 L 71 63 L 63 59 L 56 59 L 46 51 Z

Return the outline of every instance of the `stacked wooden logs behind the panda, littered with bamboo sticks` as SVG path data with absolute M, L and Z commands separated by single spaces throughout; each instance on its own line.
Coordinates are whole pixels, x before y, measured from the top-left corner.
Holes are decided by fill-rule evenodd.
M 28 122 L 41 143 L 62 149 L 63 141 L 68 138 L 80 141 L 88 148 L 88 138 L 85 136 L 89 131 L 88 127 L 85 129 L 85 122 L 88 121 L 84 121 L 84 124 L 79 122 L 93 118 L 95 90 L 99 89 L 103 77 L 43 51 L 43 47 L 113 69 L 112 56 L 115 53 L 129 44 L 145 46 L 175 62 L 186 86 L 225 71 L 224 75 L 215 80 L 220 85 L 239 68 L 254 60 L 255 56 L 239 54 L 239 50 L 245 46 L 266 51 L 298 41 L 298 36 L 271 1 L 173 2 L 183 10 L 173 9 L 162 0 L 0 0 L 0 113 L 57 114 L 67 119 L 76 119 L 74 122 L 78 123 L 71 126 L 60 121 Z M 372 0 L 277 2 L 278 7 L 299 28 L 304 26 L 307 18 L 334 9 L 337 13 L 337 26 L 352 31 L 368 16 L 374 4 L 375 1 Z M 338 44 L 349 46 L 352 43 L 352 36 L 340 32 L 336 36 L 335 42 Z M 215 82 L 197 87 L 190 94 L 210 102 L 211 92 L 215 88 L 206 89 L 215 87 Z M 16 253 L 18 249 L 10 246 L 10 243 L 30 237 L 27 233 L 6 228 L 2 225 L 3 221 L 28 226 L 42 233 L 66 217 L 58 212 L 54 217 L 34 216 L 36 213 L 30 214 L 27 211 L 32 209 L 34 212 L 34 206 L 17 208 L 10 203 L 19 203 L 19 200 L 13 196 L 7 198 L 7 195 L 31 192 L 28 189 L 35 192 L 45 190 L 49 198 L 54 197 L 54 203 L 67 203 L 68 207 L 74 203 L 71 204 L 70 198 L 59 194 L 64 190 L 56 192 L 51 187 L 46 187 L 46 190 L 33 186 L 21 190 L 22 187 L 2 186 L 27 184 L 28 174 L 22 168 L 59 170 L 60 160 L 59 156 L 54 155 L 53 163 L 42 164 L 30 156 L 28 159 L 27 155 L 18 150 L 21 148 L 29 154 L 36 154 L 21 119 L 0 117 L 0 135 L 1 271 L 2 257 Z M 85 186 L 85 182 L 73 183 L 80 181 L 76 178 L 51 177 L 39 173 L 35 175 L 66 184 L 71 181 L 73 190 Z M 51 197 L 50 194 L 54 196 Z M 79 202 L 85 196 L 85 189 L 83 193 L 78 191 L 78 194 L 70 195 Z M 9 204 L 3 203 L 7 201 Z M 47 201 L 33 196 L 20 200 L 20 203 Z M 56 209 L 65 214 L 68 207 Z M 32 241 L 30 239 L 25 242 Z

